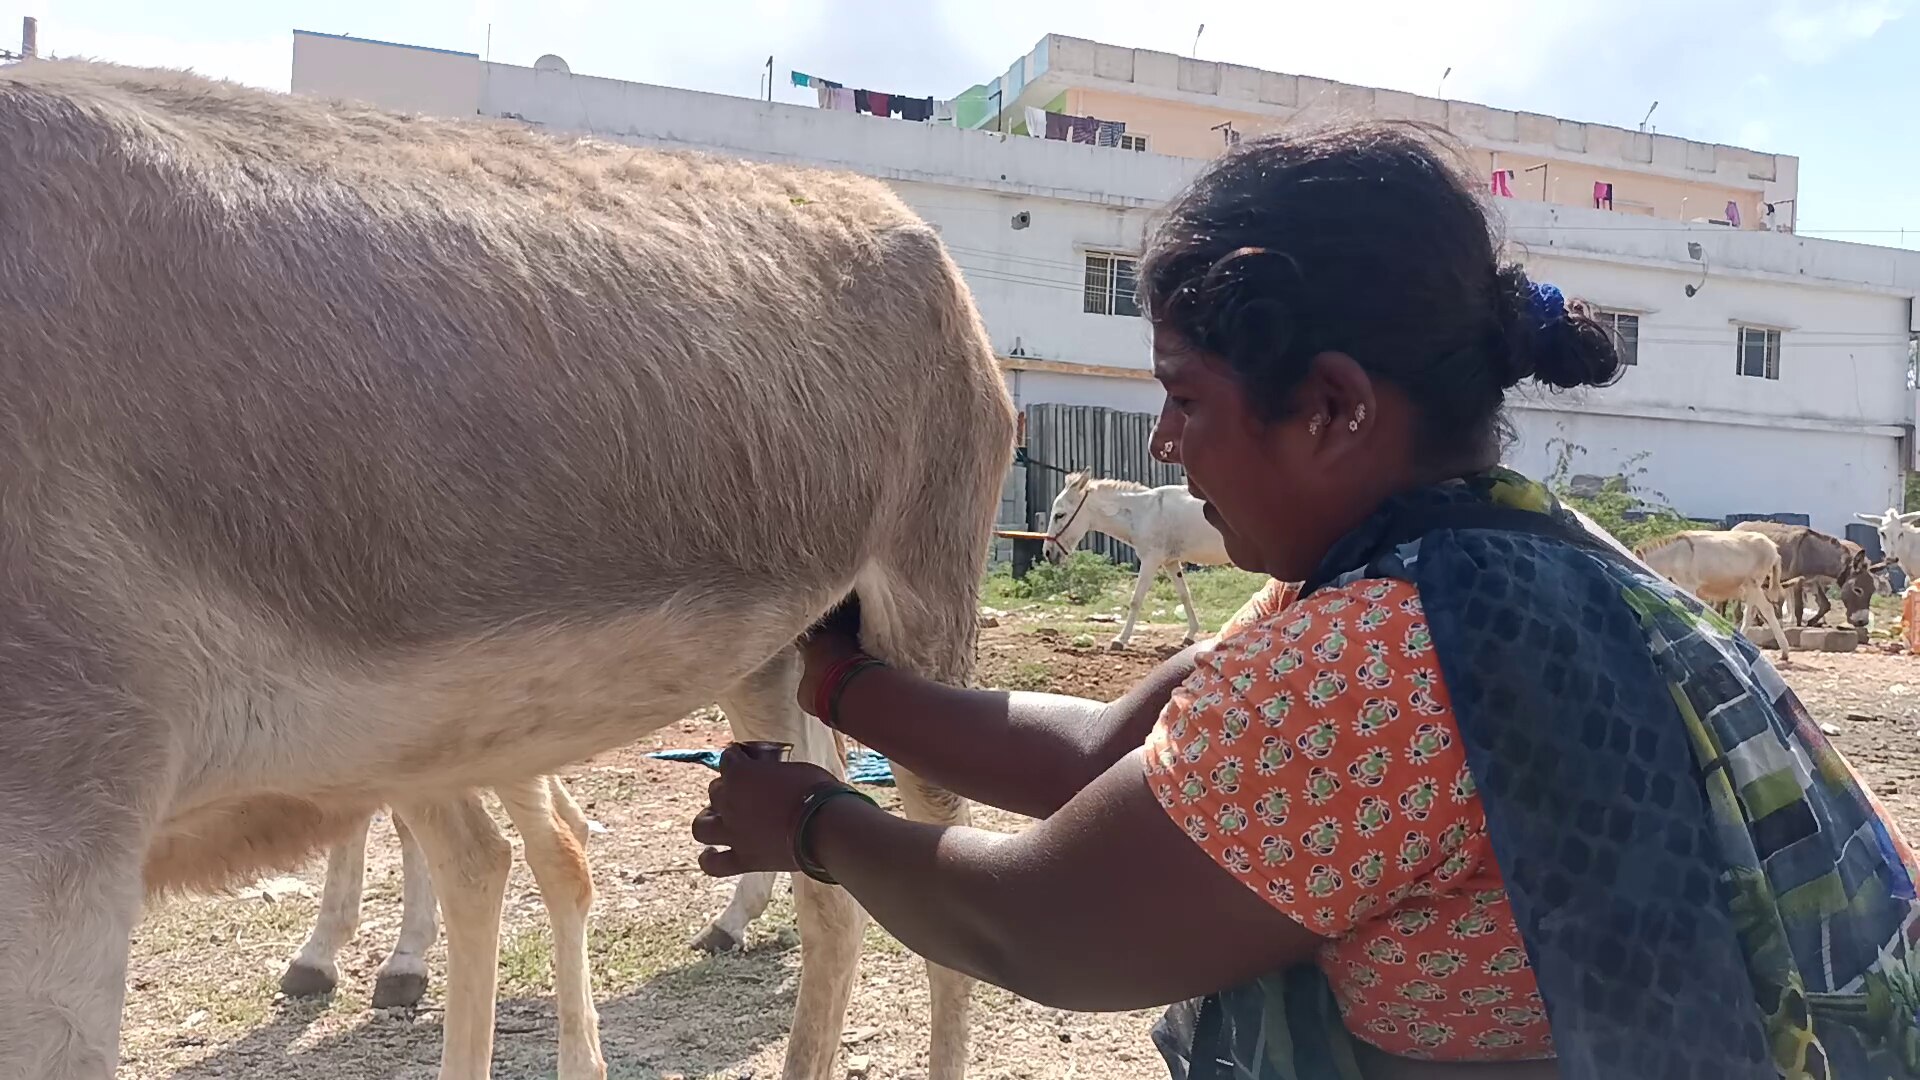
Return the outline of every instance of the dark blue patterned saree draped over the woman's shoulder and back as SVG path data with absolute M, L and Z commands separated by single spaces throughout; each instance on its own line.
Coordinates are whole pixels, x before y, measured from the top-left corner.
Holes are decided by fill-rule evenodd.
M 1503 469 L 1308 592 L 1373 577 L 1419 588 L 1561 1076 L 1920 1076 L 1912 855 L 1757 648 Z M 1361 1076 L 1309 965 L 1154 1042 L 1175 1080 Z

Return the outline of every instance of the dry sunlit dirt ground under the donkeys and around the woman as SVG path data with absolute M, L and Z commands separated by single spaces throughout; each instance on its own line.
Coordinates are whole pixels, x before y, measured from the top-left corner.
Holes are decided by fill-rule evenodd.
M 981 680 L 991 686 L 1112 698 L 1177 650 L 1175 626 L 1142 626 L 1127 653 L 1075 648 L 1068 630 L 1010 621 L 983 630 Z M 1106 634 L 1098 634 L 1104 644 Z M 1797 653 L 1788 680 L 1880 799 L 1920 836 L 1920 657 Z M 707 957 L 687 942 L 726 903 L 728 886 L 693 867 L 687 821 L 708 773 L 643 757 L 659 748 L 718 746 L 724 723 L 701 713 L 566 780 L 605 826 L 589 842 L 599 899 L 593 988 L 614 1078 L 772 1080 L 799 974 L 785 890 L 753 928 L 745 953 Z M 883 801 L 887 801 L 883 798 Z M 1002 813 L 981 824 L 1018 828 Z M 323 1001 L 278 997 L 286 959 L 313 926 L 321 867 L 298 880 L 227 899 L 156 907 L 142 920 L 129 970 L 121 1080 L 323 1076 L 428 1080 L 440 1059 L 440 974 L 419 1009 L 369 1007 L 374 969 L 399 922 L 399 851 L 386 822 L 369 849 L 365 917 L 342 951 L 340 990 Z M 555 1019 L 545 915 L 515 863 L 501 947 L 493 1076 L 553 1076 Z M 920 965 L 872 928 L 847 1022 L 841 1072 L 924 1078 L 927 992 Z M 973 997 L 970 1076 L 979 1080 L 1131 1080 L 1165 1076 L 1146 1038 L 1150 1013 L 1079 1015 L 995 988 Z

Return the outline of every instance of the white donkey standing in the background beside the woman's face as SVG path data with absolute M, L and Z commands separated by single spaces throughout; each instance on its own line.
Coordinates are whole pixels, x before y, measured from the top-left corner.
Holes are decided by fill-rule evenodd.
M 1089 532 L 1106 532 L 1131 546 L 1140 555 L 1140 578 L 1133 586 L 1133 605 L 1112 648 L 1127 648 L 1140 603 L 1154 588 L 1154 577 L 1165 567 L 1173 588 L 1187 609 L 1187 644 L 1200 636 L 1200 617 L 1194 598 L 1187 592 L 1185 565 L 1219 567 L 1227 559 L 1227 542 L 1202 513 L 1202 502 L 1181 484 L 1148 488 L 1133 480 L 1094 480 L 1089 473 L 1071 473 L 1068 486 L 1054 496 L 1046 517 L 1046 559 L 1066 561 Z

